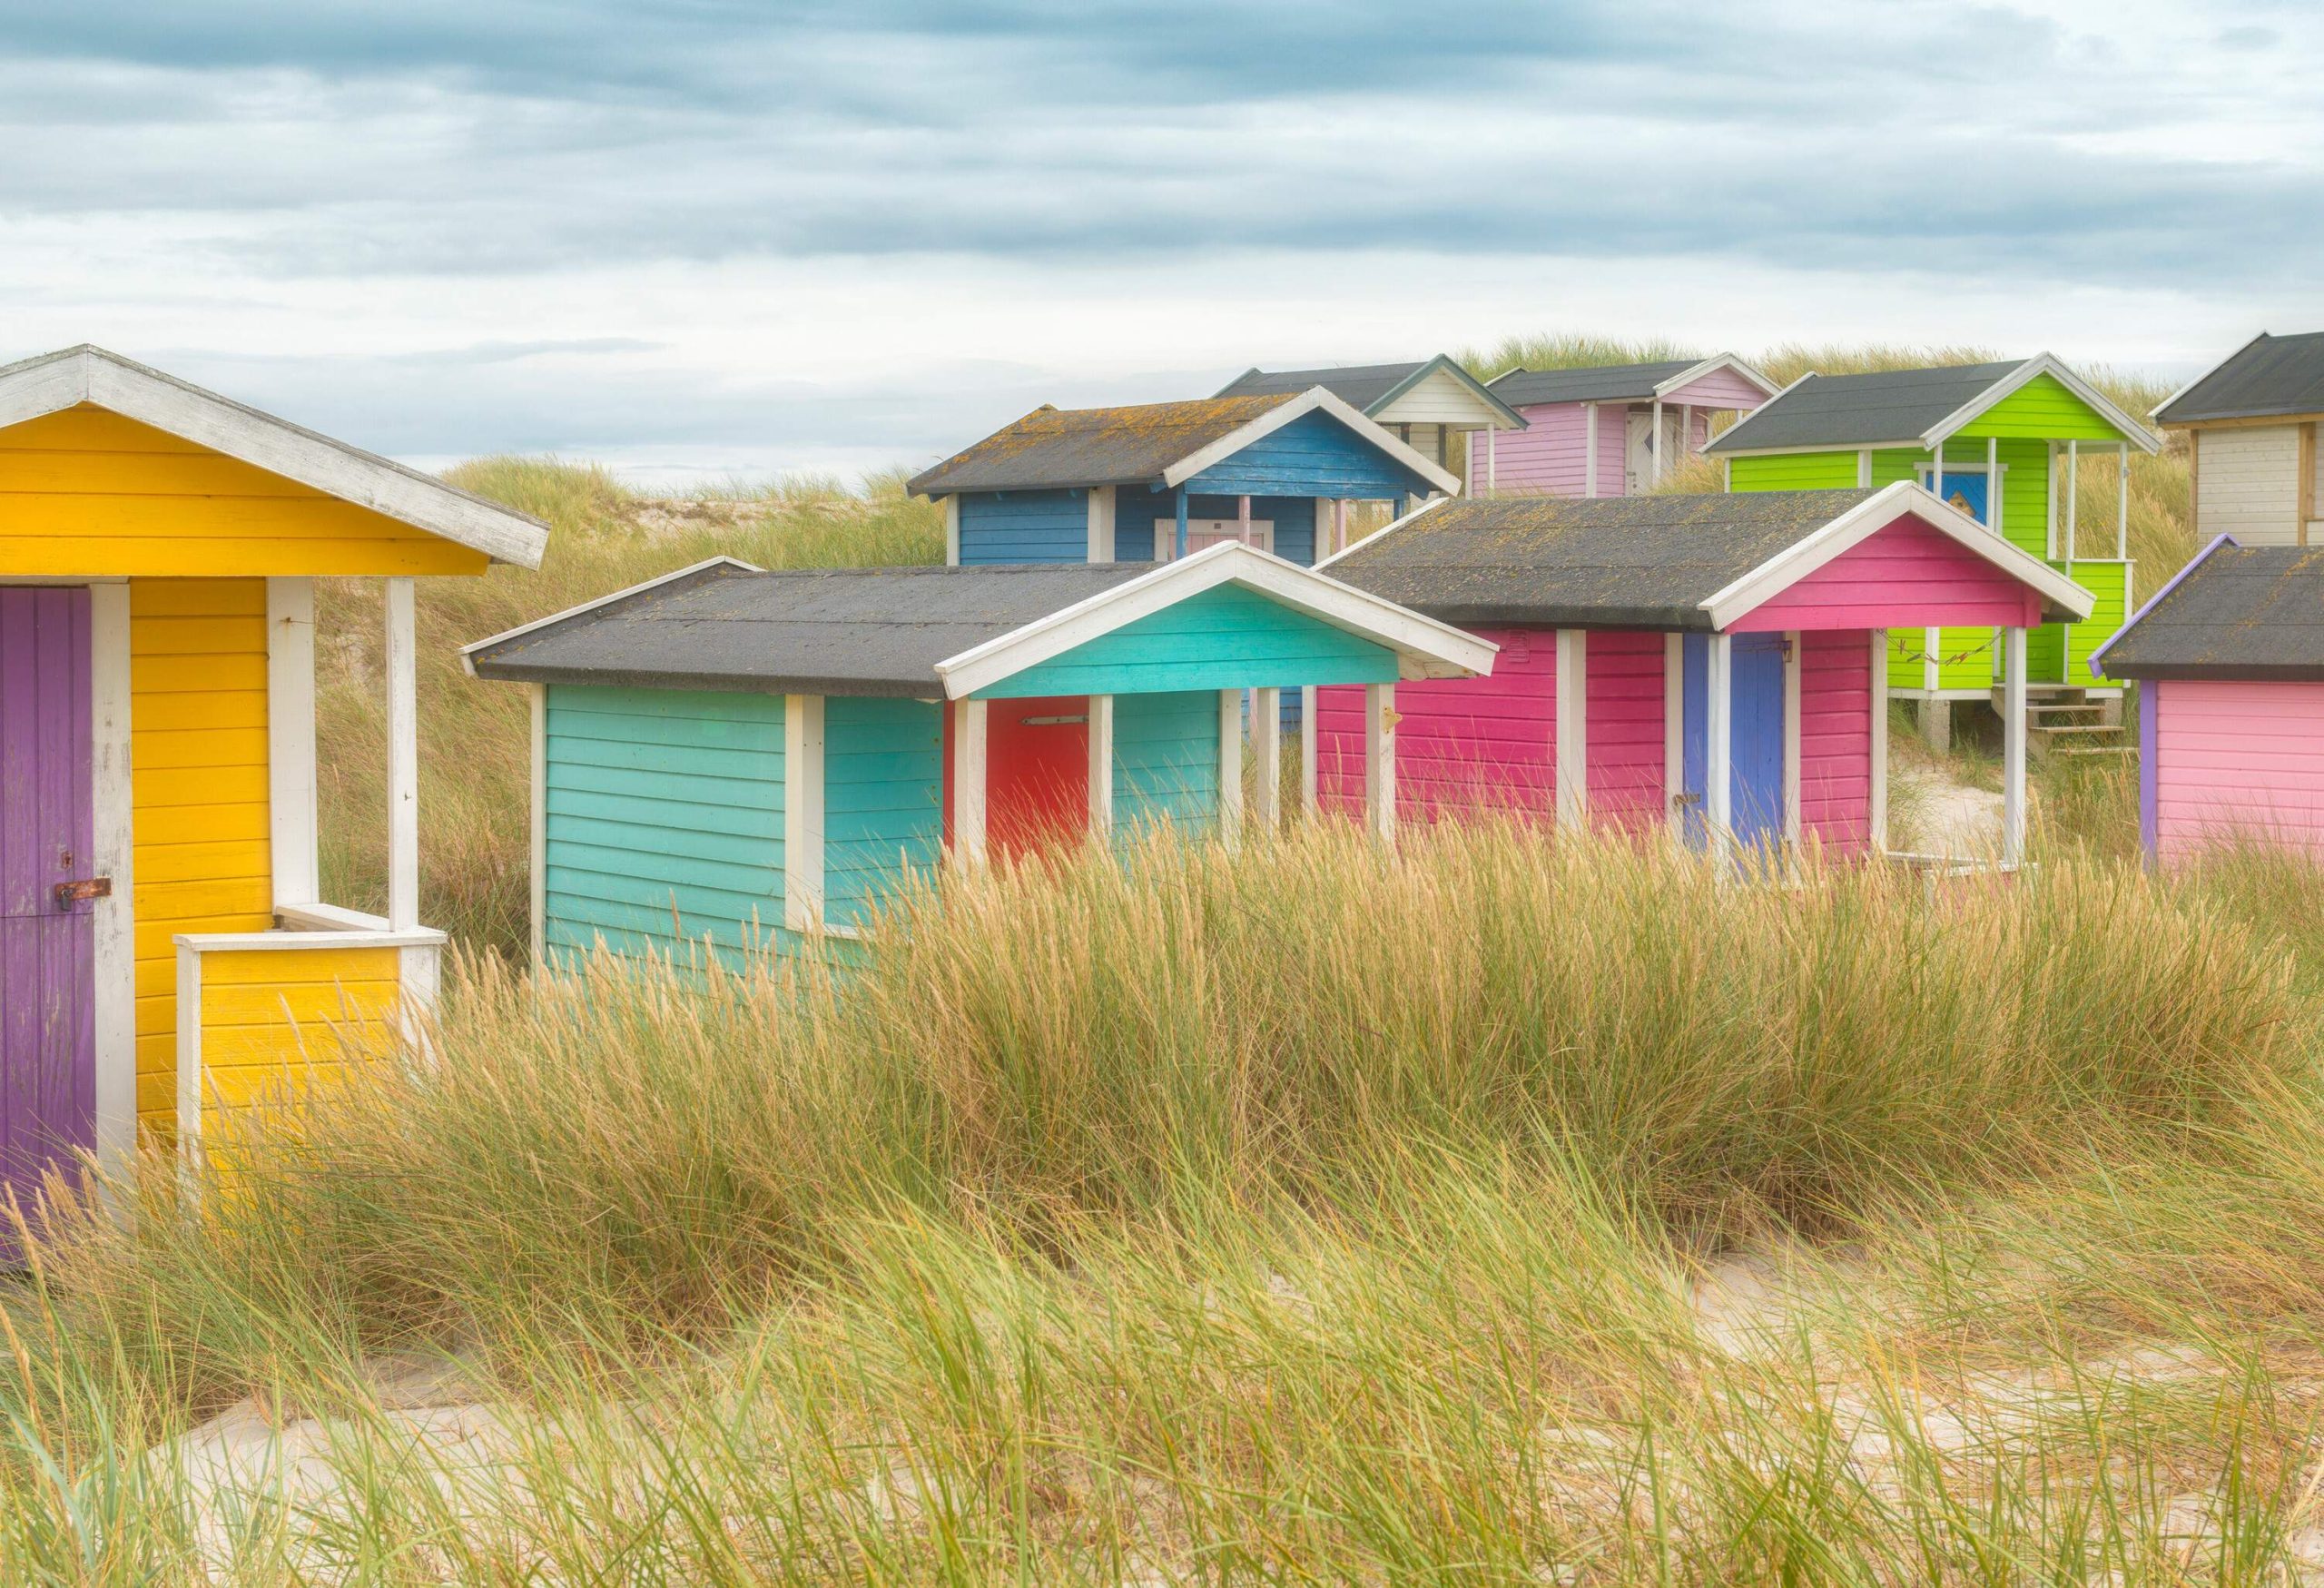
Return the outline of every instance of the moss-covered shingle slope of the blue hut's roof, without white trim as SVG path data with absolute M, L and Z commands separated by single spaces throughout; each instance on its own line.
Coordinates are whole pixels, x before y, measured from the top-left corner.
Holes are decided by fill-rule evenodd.
M 1285 391 L 1134 407 L 1039 407 L 918 474 L 906 491 L 948 495 L 1146 484 L 1162 479 L 1162 470 L 1181 458 L 1290 402 L 1292 395 Z

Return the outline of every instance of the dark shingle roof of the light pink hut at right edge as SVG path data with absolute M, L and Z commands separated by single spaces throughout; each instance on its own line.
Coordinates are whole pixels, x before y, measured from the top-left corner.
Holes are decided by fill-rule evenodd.
M 2106 646 L 2119 679 L 2324 679 L 2324 546 L 2215 546 Z

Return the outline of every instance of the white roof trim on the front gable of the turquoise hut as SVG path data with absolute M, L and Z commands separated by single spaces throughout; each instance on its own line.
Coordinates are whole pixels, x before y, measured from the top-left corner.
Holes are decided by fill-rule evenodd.
M 1459 679 L 1492 672 L 1492 658 L 1499 651 L 1490 639 L 1425 618 L 1311 567 L 1285 563 L 1239 542 L 1220 542 L 1078 600 L 1025 628 L 969 646 L 960 656 L 948 656 L 937 663 L 937 677 L 944 681 L 946 698 L 962 700 L 1222 584 L 1239 584 L 1332 628 L 1392 646 L 1397 674 L 1406 679 Z

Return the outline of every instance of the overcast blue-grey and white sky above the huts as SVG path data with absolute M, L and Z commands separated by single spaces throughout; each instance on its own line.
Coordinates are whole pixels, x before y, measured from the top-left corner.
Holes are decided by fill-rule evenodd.
M 74 0 L 0 146 L 0 356 L 648 481 L 1508 332 L 2324 328 L 2317 0 Z

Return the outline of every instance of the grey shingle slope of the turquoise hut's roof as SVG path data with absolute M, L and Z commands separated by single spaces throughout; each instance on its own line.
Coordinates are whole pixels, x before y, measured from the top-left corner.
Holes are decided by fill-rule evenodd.
M 528 684 L 906 695 L 937 663 L 1148 574 L 1148 563 L 1027 567 L 709 567 L 474 651 Z

